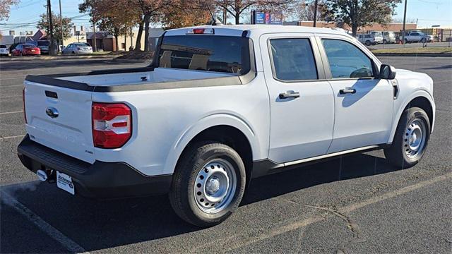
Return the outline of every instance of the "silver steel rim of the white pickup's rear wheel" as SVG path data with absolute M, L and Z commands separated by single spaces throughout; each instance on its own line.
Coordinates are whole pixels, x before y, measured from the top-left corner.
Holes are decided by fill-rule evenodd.
M 237 176 L 232 164 L 225 159 L 213 159 L 196 175 L 196 205 L 208 214 L 220 212 L 230 204 L 236 188 Z

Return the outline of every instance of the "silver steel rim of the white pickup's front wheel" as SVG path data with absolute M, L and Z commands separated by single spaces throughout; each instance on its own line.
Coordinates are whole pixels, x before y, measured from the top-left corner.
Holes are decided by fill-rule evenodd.
M 415 159 L 422 153 L 426 132 L 425 123 L 421 119 L 414 119 L 408 124 L 403 137 L 403 149 L 408 158 Z

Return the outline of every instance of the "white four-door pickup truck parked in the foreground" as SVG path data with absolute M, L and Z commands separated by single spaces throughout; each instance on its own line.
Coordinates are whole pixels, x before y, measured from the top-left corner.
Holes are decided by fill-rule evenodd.
M 146 68 L 28 75 L 18 156 L 69 193 L 169 193 L 182 219 L 212 226 L 258 176 L 381 148 L 412 167 L 432 92 L 428 75 L 328 28 L 168 30 Z

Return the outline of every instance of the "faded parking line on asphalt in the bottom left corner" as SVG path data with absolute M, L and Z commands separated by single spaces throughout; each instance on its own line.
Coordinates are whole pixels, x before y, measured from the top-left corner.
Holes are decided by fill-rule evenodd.
M 1 192 L 1 199 L 4 200 L 6 205 L 13 207 L 17 212 L 25 216 L 30 222 L 35 224 L 41 231 L 50 237 L 54 238 L 55 241 L 66 248 L 70 253 L 89 253 L 78 243 L 71 240 L 71 238 L 65 236 L 61 231 L 55 229 L 52 225 L 48 224 L 41 217 L 39 217 L 35 212 L 25 207 L 21 202 L 13 198 L 11 195 L 6 193 L 6 191 Z

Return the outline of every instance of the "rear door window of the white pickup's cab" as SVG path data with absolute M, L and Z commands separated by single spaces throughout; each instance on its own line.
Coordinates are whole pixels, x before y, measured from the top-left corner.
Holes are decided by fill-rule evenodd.
M 315 80 L 316 61 L 307 38 L 270 40 L 275 78 L 279 80 Z

